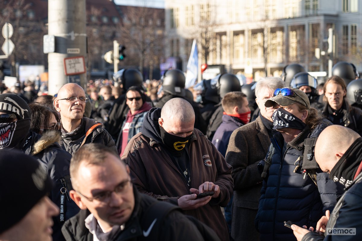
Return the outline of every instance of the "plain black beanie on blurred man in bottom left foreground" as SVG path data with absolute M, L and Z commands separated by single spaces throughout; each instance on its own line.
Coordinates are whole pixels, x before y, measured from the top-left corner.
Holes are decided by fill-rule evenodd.
M 0 150 L 0 233 L 18 223 L 47 193 L 52 181 L 32 156 Z

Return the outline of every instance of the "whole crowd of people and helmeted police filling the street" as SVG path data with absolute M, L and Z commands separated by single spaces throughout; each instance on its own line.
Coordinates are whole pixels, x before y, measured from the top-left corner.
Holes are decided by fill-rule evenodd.
M 340 62 L 319 84 L 290 64 L 189 89 L 133 68 L 54 96 L 3 87 L 0 241 L 358 240 L 358 77 Z

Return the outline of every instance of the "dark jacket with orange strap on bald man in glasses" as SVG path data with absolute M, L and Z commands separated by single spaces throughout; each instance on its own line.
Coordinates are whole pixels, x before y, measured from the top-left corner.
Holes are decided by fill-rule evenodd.
M 62 148 L 68 151 L 70 154 L 73 154 L 73 152 L 77 151 L 81 147 L 81 144 L 85 138 L 85 134 L 88 132 L 88 130 L 96 124 L 101 123 L 96 122 L 93 119 L 83 117 L 80 126 L 77 129 L 73 130 L 72 132 L 62 134 Z M 101 127 L 101 125 L 98 125 L 89 133 L 89 135 L 87 135 L 87 139 L 85 140 L 84 144 L 88 143 L 103 144 L 110 147 L 112 150 L 114 150 L 115 153 L 117 153 L 117 148 L 115 147 L 113 138 L 105 129 Z

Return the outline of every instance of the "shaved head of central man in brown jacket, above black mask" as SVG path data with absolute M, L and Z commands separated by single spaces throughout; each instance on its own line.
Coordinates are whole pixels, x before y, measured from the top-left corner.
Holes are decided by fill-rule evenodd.
M 193 133 L 195 112 L 191 104 L 182 98 L 173 98 L 161 109 L 159 125 L 169 134 L 187 137 Z

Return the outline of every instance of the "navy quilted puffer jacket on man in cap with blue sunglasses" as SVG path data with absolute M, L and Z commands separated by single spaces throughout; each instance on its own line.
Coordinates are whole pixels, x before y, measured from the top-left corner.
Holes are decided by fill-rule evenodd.
M 316 227 L 323 213 L 332 210 L 338 193 L 335 182 L 327 173 L 317 173 L 317 185 L 296 169 L 296 160 L 303 156 L 303 142 L 308 137 L 317 137 L 331 122 L 323 120 L 313 130 L 306 126 L 292 141 L 285 143 L 282 135 L 271 138 L 275 148 L 270 163 L 269 177 L 263 182 L 255 224 L 261 240 L 295 240 L 291 229 L 284 221 Z M 321 170 L 319 172 L 322 172 Z M 304 178 L 305 176 L 305 178 Z

